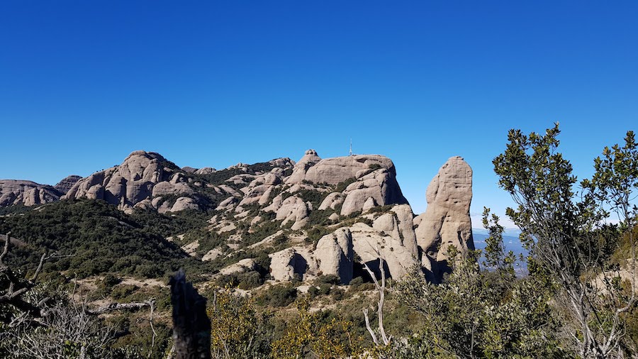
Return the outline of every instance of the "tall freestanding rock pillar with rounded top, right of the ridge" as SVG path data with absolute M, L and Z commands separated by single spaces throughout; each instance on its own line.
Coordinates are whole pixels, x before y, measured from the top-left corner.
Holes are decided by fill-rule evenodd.
M 461 157 L 452 157 L 440 168 L 425 193 L 427 209 L 418 216 L 415 235 L 422 251 L 422 265 L 430 280 L 439 282 L 447 265 L 447 248 L 461 253 L 474 250 L 469 214 L 472 200 L 472 169 Z

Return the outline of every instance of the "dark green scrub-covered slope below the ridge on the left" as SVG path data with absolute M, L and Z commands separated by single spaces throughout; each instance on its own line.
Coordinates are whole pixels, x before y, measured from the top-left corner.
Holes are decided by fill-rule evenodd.
M 8 263 L 34 270 L 42 253 L 60 259 L 45 270 L 67 272 L 79 278 L 114 272 L 139 277 L 165 277 L 180 266 L 196 267 L 195 260 L 165 236 L 201 226 L 199 216 L 159 214 L 128 216 L 104 201 L 57 201 L 24 214 L 0 217 L 0 232 L 11 231 L 23 246 L 11 251 Z

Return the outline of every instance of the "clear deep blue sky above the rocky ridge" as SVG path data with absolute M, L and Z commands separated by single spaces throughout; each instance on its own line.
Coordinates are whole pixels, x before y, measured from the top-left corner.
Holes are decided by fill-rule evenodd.
M 638 130 L 637 1 L 2 1 L 0 178 L 133 150 L 181 166 L 392 158 L 416 213 L 442 163 L 502 211 L 509 128 L 560 121 L 576 174 Z M 478 223 L 475 223 L 478 225 Z

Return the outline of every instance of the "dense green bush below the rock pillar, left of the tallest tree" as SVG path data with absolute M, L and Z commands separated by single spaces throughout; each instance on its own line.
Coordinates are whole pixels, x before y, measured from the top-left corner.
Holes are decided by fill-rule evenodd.
M 415 268 L 399 282 L 398 295 L 417 311 L 425 329 L 398 348 L 401 358 L 564 358 L 554 335 L 557 328 L 549 306 L 552 283 L 532 266 L 517 279 L 513 254 L 503 253 L 498 218 L 490 229 L 486 265 L 478 265 L 480 250 L 459 258 L 453 246 L 453 271 L 441 285 L 425 280 Z

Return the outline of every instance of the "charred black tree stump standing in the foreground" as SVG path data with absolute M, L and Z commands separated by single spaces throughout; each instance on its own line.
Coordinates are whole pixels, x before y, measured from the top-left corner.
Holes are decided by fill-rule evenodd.
M 182 270 L 171 278 L 170 285 L 175 358 L 211 358 L 211 321 L 206 316 L 206 298 L 186 282 Z

